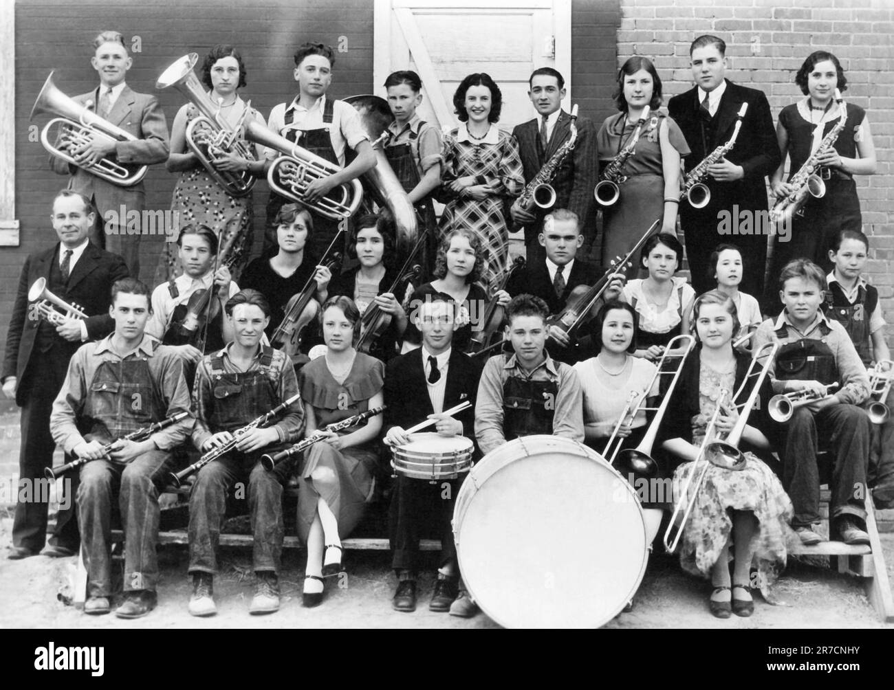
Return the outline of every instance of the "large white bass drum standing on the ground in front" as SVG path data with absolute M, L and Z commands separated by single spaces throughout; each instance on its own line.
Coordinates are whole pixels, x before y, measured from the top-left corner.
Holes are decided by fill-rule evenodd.
M 468 592 L 503 627 L 600 627 L 648 560 L 636 492 L 595 450 L 526 436 L 485 455 L 457 494 Z

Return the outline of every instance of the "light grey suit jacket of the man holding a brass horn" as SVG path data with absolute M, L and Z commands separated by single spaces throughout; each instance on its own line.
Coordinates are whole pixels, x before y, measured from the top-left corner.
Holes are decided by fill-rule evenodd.
M 92 101 L 93 108 L 96 109 L 99 88 L 80 94 L 74 100 L 80 105 Z M 125 86 L 106 120 L 137 138 L 136 141 L 120 141 L 115 146 L 115 157 L 119 163 L 148 165 L 167 160 L 170 151 L 167 121 L 155 96 L 138 94 Z M 52 155 L 50 167 L 60 175 L 70 174 L 72 177 L 68 182 L 68 189 L 74 189 L 87 198 L 94 198 L 103 220 L 106 211 L 118 211 L 122 204 L 128 210 L 142 210 L 144 206 L 146 189 L 142 181 L 131 187 L 119 187 Z

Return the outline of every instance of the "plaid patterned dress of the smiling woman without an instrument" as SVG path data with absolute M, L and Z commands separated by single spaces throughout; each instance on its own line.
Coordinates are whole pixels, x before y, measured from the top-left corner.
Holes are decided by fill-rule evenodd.
M 472 139 L 465 124 L 444 137 L 444 171 L 441 200 L 446 202 L 441 216 L 441 232 L 468 228 L 481 239 L 485 249 L 485 270 L 481 282 L 493 294 L 509 270 L 509 227 L 503 215 L 511 199 L 525 186 L 519 144 L 491 124 L 484 139 Z M 476 184 L 492 190 L 482 201 L 458 196 L 447 185 L 460 177 L 474 175 Z

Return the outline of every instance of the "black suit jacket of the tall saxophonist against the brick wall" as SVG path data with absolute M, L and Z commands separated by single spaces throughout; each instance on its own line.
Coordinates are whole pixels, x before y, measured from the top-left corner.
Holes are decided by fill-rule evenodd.
M 782 160 L 770 104 L 763 91 L 741 87 L 730 80 L 726 80 L 726 84 L 717 113 L 713 117 L 717 124 L 713 137 L 703 137 L 704 120 L 699 111 L 697 87 L 672 97 L 668 103 L 668 114 L 677 122 L 692 150 L 691 155 L 684 158 L 687 173 L 701 163 L 715 147 L 730 139 L 739 108 L 743 103 L 748 104 L 736 144 L 726 156 L 731 163 L 742 166 L 745 177 L 733 182 L 717 182 L 709 177 L 705 184 L 711 189 L 711 202 L 700 211 L 694 211 L 688 204 L 680 204 L 680 215 L 702 214 L 705 218 L 713 219 L 714 224 L 717 223 L 717 210 L 730 209 L 733 204 L 738 204 L 740 208 L 765 210 L 767 188 L 764 178 L 772 175 Z

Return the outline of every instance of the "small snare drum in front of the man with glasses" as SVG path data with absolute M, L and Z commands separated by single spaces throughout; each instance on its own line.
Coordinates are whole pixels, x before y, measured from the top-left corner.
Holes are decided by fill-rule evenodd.
M 471 469 L 472 448 L 465 436 L 410 433 L 409 443 L 394 447 L 392 467 L 398 474 L 431 482 L 456 479 Z

